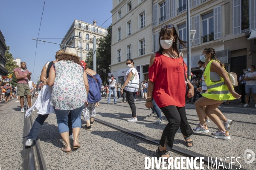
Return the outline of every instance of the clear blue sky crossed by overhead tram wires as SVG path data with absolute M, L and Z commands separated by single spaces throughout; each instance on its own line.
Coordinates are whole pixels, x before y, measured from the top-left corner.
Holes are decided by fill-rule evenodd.
M 44 6 L 44 0 L 0 0 L 0 30 L 10 46 L 14 59 L 26 62 L 36 82 L 41 70 L 48 61 L 55 60 L 59 45 L 36 41 Z M 74 20 L 83 20 L 101 26 L 111 17 L 112 0 L 45 0 L 38 40 L 61 43 Z M 108 28 L 112 18 L 101 27 Z M 59 39 L 40 39 L 59 38 Z M 40 43 L 40 44 L 39 44 Z M 35 67 L 34 67 L 35 61 Z

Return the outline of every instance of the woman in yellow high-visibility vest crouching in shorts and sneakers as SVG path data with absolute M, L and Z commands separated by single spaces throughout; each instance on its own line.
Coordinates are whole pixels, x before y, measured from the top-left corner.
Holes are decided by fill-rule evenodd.
M 222 125 L 221 120 L 213 111 L 215 111 L 224 100 L 239 99 L 241 95 L 237 94 L 234 90 L 227 75 L 227 71 L 223 67 L 224 64 L 217 59 L 215 49 L 205 48 L 200 59 L 206 64 L 204 81 L 207 85 L 208 93 L 202 94 L 203 97 L 195 102 L 195 109 L 200 124 L 198 127 L 193 128 L 193 131 L 194 133 L 209 133 L 204 119 L 204 115 L 207 114 L 218 127 L 218 131 L 212 133 L 211 136 L 218 139 L 229 140 L 230 136 L 227 127 L 225 128 L 224 125 Z M 206 106 L 205 109 L 204 106 Z

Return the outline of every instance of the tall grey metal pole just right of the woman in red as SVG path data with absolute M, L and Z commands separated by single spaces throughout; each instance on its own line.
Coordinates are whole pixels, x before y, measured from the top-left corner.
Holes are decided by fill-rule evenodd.
M 186 2 L 187 7 L 187 47 L 188 47 L 188 79 L 191 79 L 191 49 L 190 49 L 190 11 L 189 11 L 189 0 Z

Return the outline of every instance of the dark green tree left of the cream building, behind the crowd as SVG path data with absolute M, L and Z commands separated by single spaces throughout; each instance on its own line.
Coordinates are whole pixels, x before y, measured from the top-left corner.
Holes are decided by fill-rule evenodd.
M 102 79 L 102 83 L 107 84 L 108 73 L 110 72 L 111 65 L 111 36 L 112 36 L 112 27 L 109 26 L 108 35 L 106 37 L 99 39 L 98 48 L 96 51 L 96 65 L 97 73 Z M 93 69 L 93 51 L 89 52 L 89 57 L 85 61 L 88 65 L 88 68 Z

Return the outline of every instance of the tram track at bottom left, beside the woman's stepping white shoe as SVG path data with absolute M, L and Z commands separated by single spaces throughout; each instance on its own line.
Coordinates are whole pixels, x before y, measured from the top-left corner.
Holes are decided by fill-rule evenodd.
M 25 113 L 27 110 L 27 100 L 24 105 Z M 30 115 L 24 118 L 24 130 L 23 130 L 23 143 L 26 142 L 26 136 L 29 134 L 33 125 L 33 119 Z M 23 169 L 24 170 L 47 170 L 44 156 L 40 147 L 38 139 L 34 140 L 31 147 L 24 147 L 22 151 L 23 157 Z

